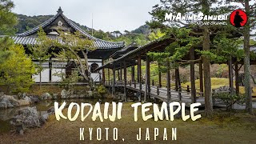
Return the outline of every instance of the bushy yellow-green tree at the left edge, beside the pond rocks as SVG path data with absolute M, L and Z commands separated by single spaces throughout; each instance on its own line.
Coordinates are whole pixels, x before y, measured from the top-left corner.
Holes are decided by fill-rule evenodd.
M 8 92 L 26 92 L 34 83 L 34 63 L 25 54 L 23 46 L 10 46 L 8 51 L 10 56 L 0 63 L 0 85 L 7 86 Z

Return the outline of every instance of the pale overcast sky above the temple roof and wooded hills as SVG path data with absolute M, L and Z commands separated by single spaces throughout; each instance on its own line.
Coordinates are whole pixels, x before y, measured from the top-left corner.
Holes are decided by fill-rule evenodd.
M 104 31 L 134 30 L 150 20 L 149 11 L 160 0 L 13 0 L 14 13 L 34 15 L 63 14 L 74 22 Z

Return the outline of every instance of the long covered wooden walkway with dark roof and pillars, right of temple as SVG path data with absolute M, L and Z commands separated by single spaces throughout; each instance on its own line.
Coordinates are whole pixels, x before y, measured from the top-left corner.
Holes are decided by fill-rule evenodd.
M 157 39 L 153 42 L 140 46 L 133 50 L 126 49 L 122 55 L 115 54 L 114 60 L 107 62 L 105 65 L 98 67 L 96 70 L 102 70 L 102 84 L 110 87 L 112 94 L 116 94 L 115 89 L 122 87 L 125 101 L 127 100 L 127 91 L 133 90 L 137 92 L 136 96 L 144 102 L 150 99 L 162 100 L 164 102 L 185 102 L 187 106 L 190 103 L 200 102 L 202 106 L 205 104 L 203 96 L 203 70 L 201 56 L 195 53 L 195 50 L 202 50 L 201 46 L 192 47 L 190 52 L 182 59 L 186 60 L 186 65 L 190 65 L 190 87 L 182 87 L 179 76 L 179 68 L 175 69 L 175 81 L 170 83 L 170 63 L 167 62 L 166 84 L 162 83 L 162 74 L 158 74 L 158 82 L 150 80 L 150 62 L 152 60 L 147 55 L 148 52 L 162 52 L 166 46 L 173 42 L 171 38 Z M 146 75 L 142 78 L 142 60 L 145 62 Z M 239 94 L 238 71 L 241 69 L 243 62 L 238 62 L 235 58 L 230 58 L 226 64 L 229 66 L 230 93 Z M 199 66 L 199 87 L 195 87 L 195 70 L 194 66 Z M 135 66 L 137 66 L 137 74 L 135 74 Z M 127 68 L 131 67 L 130 82 L 127 80 Z M 107 78 L 104 72 L 107 69 Z M 112 73 L 110 74 L 110 70 Z M 234 74 L 233 74 L 234 71 Z M 116 72 L 118 74 L 116 74 Z M 111 75 L 111 78 L 110 78 Z M 137 75 L 137 78 L 135 78 Z M 235 89 L 234 78 L 235 76 Z M 118 77 L 118 78 L 117 78 Z M 106 80 L 107 79 L 107 80 Z M 142 97 L 143 96 L 143 97 Z M 213 102 L 214 106 L 223 106 L 220 102 Z

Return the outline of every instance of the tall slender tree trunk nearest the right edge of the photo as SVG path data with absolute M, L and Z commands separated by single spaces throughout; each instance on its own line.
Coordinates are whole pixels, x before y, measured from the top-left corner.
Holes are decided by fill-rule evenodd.
M 245 1 L 246 13 L 249 14 L 250 6 L 249 1 Z M 244 70 L 245 70 L 245 91 L 246 91 L 246 111 L 249 114 L 253 114 L 253 106 L 252 106 L 252 97 L 251 97 L 251 87 L 250 87 L 250 18 L 244 27 L 244 50 L 245 50 L 245 58 L 244 58 Z

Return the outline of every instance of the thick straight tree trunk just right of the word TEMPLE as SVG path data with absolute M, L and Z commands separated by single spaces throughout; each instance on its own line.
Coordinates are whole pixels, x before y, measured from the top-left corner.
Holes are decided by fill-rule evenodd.
M 203 43 L 202 50 L 210 50 L 210 32 L 208 26 L 203 26 Z M 203 75 L 204 75 L 204 96 L 205 96 L 205 113 L 210 116 L 213 113 L 213 100 L 210 83 L 210 58 L 202 57 Z

